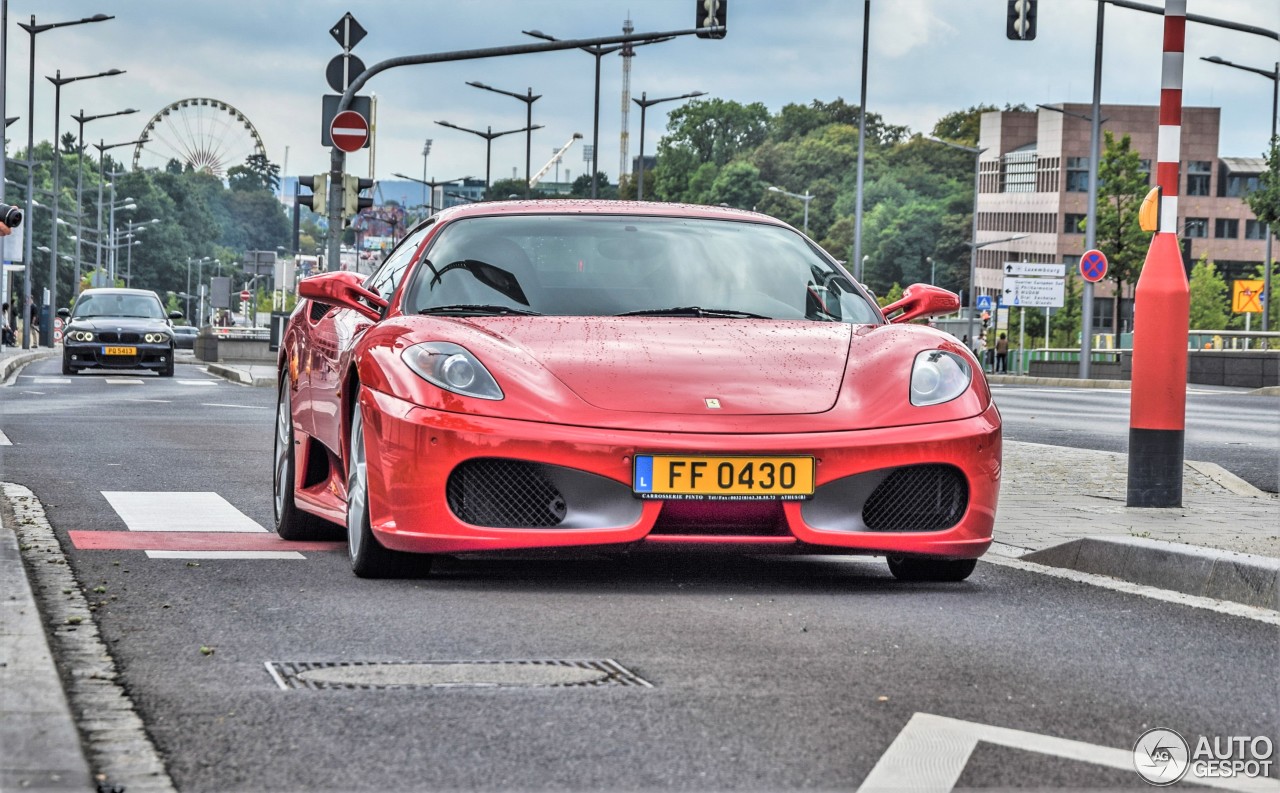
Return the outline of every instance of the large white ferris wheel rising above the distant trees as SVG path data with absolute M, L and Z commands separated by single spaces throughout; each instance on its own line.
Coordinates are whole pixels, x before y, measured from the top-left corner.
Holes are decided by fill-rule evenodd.
M 221 100 L 184 98 L 151 116 L 133 148 L 133 169 L 183 166 L 225 177 L 250 155 L 266 156 L 262 137 L 239 110 Z

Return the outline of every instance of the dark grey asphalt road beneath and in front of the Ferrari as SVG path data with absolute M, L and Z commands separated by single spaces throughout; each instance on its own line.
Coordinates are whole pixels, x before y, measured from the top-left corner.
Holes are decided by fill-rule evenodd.
M 362 581 L 342 553 L 77 550 L 68 531 L 127 528 L 104 492 L 215 492 L 269 527 L 274 394 L 189 365 L 56 372 L 0 390 L 3 478 L 44 501 L 180 790 L 847 789 L 914 714 L 1120 750 L 1149 726 L 1280 732 L 1274 625 L 991 564 L 961 585 L 742 556 Z M 282 689 L 265 668 L 526 659 L 613 659 L 652 687 Z M 979 744 L 960 784 L 1147 788 L 1037 747 Z

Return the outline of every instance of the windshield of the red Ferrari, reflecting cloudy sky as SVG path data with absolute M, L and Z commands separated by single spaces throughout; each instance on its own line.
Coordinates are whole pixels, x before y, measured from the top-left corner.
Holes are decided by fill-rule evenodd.
M 471 217 L 442 229 L 425 256 L 404 313 L 879 321 L 849 276 L 803 237 L 758 223 Z

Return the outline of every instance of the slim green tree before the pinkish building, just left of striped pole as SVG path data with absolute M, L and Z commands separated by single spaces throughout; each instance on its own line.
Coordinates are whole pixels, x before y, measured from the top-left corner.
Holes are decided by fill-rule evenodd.
M 1119 141 L 1106 132 L 1098 161 L 1098 249 L 1107 255 L 1107 278 L 1115 281 L 1111 326 L 1120 327 L 1120 297 L 1138 280 L 1151 235 L 1138 225 L 1138 208 L 1148 192 L 1148 177 L 1129 136 Z

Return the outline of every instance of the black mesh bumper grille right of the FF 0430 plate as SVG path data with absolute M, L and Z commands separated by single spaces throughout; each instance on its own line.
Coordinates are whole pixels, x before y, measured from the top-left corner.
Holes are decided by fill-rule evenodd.
M 969 485 L 954 466 L 908 466 L 881 482 L 863 505 L 870 531 L 941 531 L 969 508 Z

